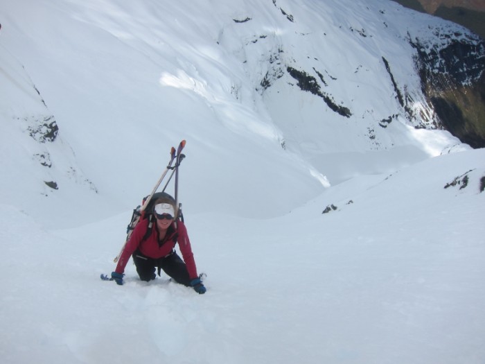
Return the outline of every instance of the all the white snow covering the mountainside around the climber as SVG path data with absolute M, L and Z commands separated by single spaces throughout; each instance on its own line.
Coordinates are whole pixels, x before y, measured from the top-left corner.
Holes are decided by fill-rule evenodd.
M 1 363 L 485 363 L 485 150 L 413 128 L 381 62 L 418 95 L 405 38 L 450 23 L 350 0 L 1 0 L 0 23 Z M 287 65 L 353 116 L 261 89 Z M 181 139 L 207 293 L 100 281 Z

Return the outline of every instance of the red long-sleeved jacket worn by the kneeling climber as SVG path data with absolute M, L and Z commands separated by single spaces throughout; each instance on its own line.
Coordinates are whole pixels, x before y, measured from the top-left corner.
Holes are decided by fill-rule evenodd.
M 145 241 L 143 236 L 148 229 L 148 218 L 140 220 L 133 230 L 130 240 L 127 241 L 123 253 L 121 253 L 120 260 L 116 266 L 117 273 L 125 272 L 126 263 L 132 256 L 136 249 L 139 249 L 141 254 L 145 257 L 159 259 L 165 257 L 172 252 L 175 248 L 175 244 L 179 243 L 180 252 L 182 252 L 182 257 L 187 266 L 188 276 L 191 279 L 197 278 L 197 268 L 195 267 L 194 256 L 191 248 L 191 241 L 188 240 L 187 229 L 182 223 L 182 221 L 177 221 L 172 223 L 168 227 L 167 233 L 164 239 L 159 243 L 159 231 L 157 229 L 157 222 L 153 223 L 152 234 L 148 236 Z

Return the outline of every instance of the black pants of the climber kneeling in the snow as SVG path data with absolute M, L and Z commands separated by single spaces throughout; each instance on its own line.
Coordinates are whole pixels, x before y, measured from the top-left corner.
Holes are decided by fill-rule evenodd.
M 155 275 L 155 268 L 159 268 L 158 274 L 160 275 L 160 269 L 166 272 L 166 275 L 174 279 L 179 284 L 184 286 L 191 285 L 191 279 L 188 277 L 187 267 L 175 251 L 166 257 L 153 259 L 145 257 L 139 250 L 132 255 L 134 265 L 136 266 L 136 272 L 142 281 L 151 281 L 157 277 Z

